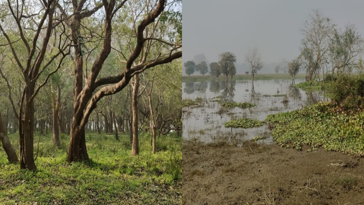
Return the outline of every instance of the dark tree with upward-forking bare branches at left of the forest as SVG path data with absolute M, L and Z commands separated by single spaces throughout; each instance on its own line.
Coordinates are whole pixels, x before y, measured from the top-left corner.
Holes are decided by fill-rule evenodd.
M 58 17 L 55 15 L 56 1 L 43 1 L 41 6 L 31 5 L 30 1 L 22 1 L 20 4 L 19 2 L 12 4 L 8 1 L 11 14 L 8 15 L 9 18 L 5 19 L 5 24 L 15 24 L 16 30 L 7 29 L 1 23 L 0 30 L 7 40 L 6 46 L 9 46 L 11 58 L 14 59 L 20 70 L 25 84 L 19 103 L 20 168 L 35 170 L 33 156 L 34 98 L 47 83 L 49 77 L 60 68 L 63 59 L 70 53 L 70 44 L 65 36 L 66 31 L 62 23 L 54 22 L 55 19 L 58 21 Z M 30 15 L 23 15 L 23 13 Z M 29 30 L 32 32 L 28 32 Z M 58 35 L 58 39 L 51 40 L 52 33 Z M 33 38 L 29 34 L 34 34 Z M 22 46 L 17 46 L 11 40 L 11 36 L 14 35 L 20 37 Z M 43 38 L 39 38 L 40 36 Z M 51 44 L 50 41 L 53 43 Z M 53 52 L 46 55 L 47 47 L 52 47 Z M 58 63 L 55 63 L 56 61 Z M 43 71 L 47 71 L 49 65 L 53 65 L 55 69 L 48 73 L 41 84 L 37 84 L 37 80 Z

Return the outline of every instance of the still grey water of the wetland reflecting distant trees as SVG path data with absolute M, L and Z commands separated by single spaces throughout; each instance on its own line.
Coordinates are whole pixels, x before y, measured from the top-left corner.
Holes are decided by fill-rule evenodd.
M 296 79 L 300 83 L 304 79 Z M 198 81 L 182 82 L 182 98 L 204 98 L 202 107 L 183 108 L 183 139 L 198 139 L 202 142 L 214 142 L 232 138 L 249 140 L 257 136 L 267 136 L 260 143 L 272 143 L 269 135 L 269 125 L 254 128 L 225 128 L 224 122 L 232 119 L 250 118 L 264 121 L 269 114 L 302 109 L 318 101 L 327 101 L 324 92 L 306 92 L 292 86 L 292 80 L 255 80 L 252 81 Z M 272 95 L 286 94 L 288 102 L 282 102 L 284 97 Z M 270 95 L 270 96 L 267 96 Z M 225 101 L 252 102 L 252 108 L 229 108 L 226 110 L 219 102 L 213 102 L 214 97 L 221 96 Z M 222 112 L 224 111 L 224 112 Z

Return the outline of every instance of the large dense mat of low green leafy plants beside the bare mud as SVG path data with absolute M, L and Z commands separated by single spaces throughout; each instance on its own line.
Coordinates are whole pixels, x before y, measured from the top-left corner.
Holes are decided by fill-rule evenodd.
M 273 139 L 286 148 L 328 151 L 364 156 L 364 111 L 339 112 L 333 102 L 320 102 L 302 110 L 268 115 L 266 122 L 278 123 Z

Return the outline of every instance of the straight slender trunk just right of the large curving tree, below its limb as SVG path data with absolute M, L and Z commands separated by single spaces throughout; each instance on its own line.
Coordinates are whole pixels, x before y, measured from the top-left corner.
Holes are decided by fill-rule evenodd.
M 139 93 L 139 75 L 134 76 L 134 85 L 132 93 L 132 147 L 131 155 L 139 154 L 139 139 L 138 139 L 138 93 Z

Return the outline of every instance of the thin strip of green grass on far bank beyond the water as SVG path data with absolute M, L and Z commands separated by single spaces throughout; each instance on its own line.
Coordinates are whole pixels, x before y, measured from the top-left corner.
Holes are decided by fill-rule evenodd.
M 305 78 L 304 73 L 298 73 L 296 75 L 296 79 L 298 78 Z M 284 73 L 278 73 L 278 74 L 256 74 L 254 76 L 254 80 L 272 80 L 272 79 L 291 79 L 292 77 L 289 74 L 284 74 Z M 182 81 L 186 82 L 186 81 L 203 81 L 203 80 L 216 80 L 216 76 L 210 76 L 210 75 L 206 75 L 206 76 L 182 76 Z M 228 79 L 230 80 L 230 76 L 228 77 Z M 225 76 L 219 76 L 219 80 L 225 80 Z M 242 75 L 236 75 L 233 76 L 233 80 L 252 80 L 252 75 L 251 74 L 242 74 Z

